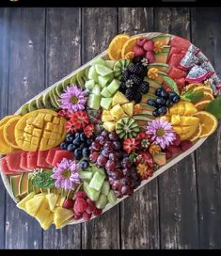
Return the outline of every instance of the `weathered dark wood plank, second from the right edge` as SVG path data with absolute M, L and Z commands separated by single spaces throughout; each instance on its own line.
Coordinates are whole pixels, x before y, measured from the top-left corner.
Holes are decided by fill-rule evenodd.
M 155 8 L 154 13 L 155 31 L 190 38 L 188 8 Z M 159 197 L 161 248 L 197 248 L 194 154 L 159 177 Z

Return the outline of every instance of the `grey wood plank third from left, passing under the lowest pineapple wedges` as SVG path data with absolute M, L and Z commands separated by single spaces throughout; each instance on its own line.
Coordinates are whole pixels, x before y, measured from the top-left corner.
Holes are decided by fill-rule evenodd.
M 46 10 L 46 87 L 81 66 L 80 8 Z M 53 239 L 52 239 L 53 237 Z M 80 248 L 81 225 L 43 232 L 43 248 Z

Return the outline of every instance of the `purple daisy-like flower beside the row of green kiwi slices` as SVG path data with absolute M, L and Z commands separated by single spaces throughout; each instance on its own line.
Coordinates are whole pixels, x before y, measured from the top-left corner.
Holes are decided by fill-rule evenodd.
M 71 113 L 85 109 L 87 103 L 86 91 L 76 86 L 67 87 L 60 96 L 61 108 L 68 109 Z

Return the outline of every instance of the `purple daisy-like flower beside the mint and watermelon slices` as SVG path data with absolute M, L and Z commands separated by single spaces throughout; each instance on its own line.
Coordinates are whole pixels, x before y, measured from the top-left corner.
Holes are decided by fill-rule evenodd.
M 52 178 L 55 179 L 55 186 L 65 190 L 72 189 L 76 184 L 81 183 L 80 175 L 77 172 L 79 165 L 75 161 L 63 158 L 63 160 L 53 168 Z

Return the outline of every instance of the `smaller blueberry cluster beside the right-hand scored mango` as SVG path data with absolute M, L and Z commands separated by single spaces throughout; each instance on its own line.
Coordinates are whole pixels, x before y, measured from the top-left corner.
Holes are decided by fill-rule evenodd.
M 174 91 L 166 92 L 165 88 L 157 88 L 155 91 L 156 99 L 149 99 L 148 103 L 151 106 L 156 107 L 152 111 L 154 117 L 159 117 L 166 114 L 166 107 L 170 107 L 173 104 L 180 102 L 181 97 Z

